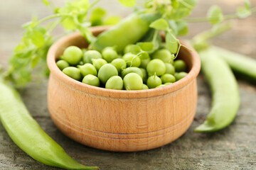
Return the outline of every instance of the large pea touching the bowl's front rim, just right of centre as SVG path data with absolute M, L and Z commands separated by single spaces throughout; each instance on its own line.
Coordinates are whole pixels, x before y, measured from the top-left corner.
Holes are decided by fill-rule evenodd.
M 124 88 L 127 90 L 142 90 L 142 77 L 136 73 L 129 73 L 124 77 Z

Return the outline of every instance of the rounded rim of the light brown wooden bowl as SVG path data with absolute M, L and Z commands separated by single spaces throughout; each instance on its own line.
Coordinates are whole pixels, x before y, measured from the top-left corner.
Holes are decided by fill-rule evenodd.
M 110 27 L 97 26 L 97 27 L 90 28 L 90 30 L 93 33 L 98 34 L 104 30 L 107 30 L 108 28 Z M 149 98 L 149 97 L 155 97 L 155 96 L 163 96 L 171 92 L 177 91 L 179 89 L 182 89 L 184 86 L 190 84 L 194 79 L 196 79 L 201 69 L 201 61 L 196 50 L 194 50 L 193 47 L 191 47 L 191 45 L 188 45 L 188 43 L 180 40 L 181 44 L 186 45 L 186 47 L 192 50 L 192 51 L 188 50 L 185 47 L 181 48 L 182 50 L 185 50 L 187 53 L 189 53 L 192 57 L 191 70 L 188 72 L 188 75 L 186 75 L 186 77 L 184 77 L 183 79 L 180 79 L 168 86 L 163 86 L 156 89 L 134 90 L 134 91 L 105 89 L 101 87 L 90 86 L 87 84 L 83 84 L 80 81 L 76 81 L 75 79 L 72 79 L 67 75 L 65 75 L 63 72 L 60 71 L 60 69 L 58 68 L 55 62 L 55 59 L 56 59 L 55 55 L 60 47 L 65 45 L 65 43 L 68 43 L 70 40 L 74 40 L 75 38 L 81 38 L 81 37 L 82 35 L 80 33 L 71 33 L 70 35 L 66 35 L 63 38 L 60 38 L 59 40 L 54 42 L 53 45 L 48 50 L 47 64 L 48 64 L 48 68 L 50 69 L 50 77 L 53 76 L 55 79 L 60 81 L 60 83 L 68 86 L 69 88 L 75 91 L 80 91 L 80 93 L 82 94 L 90 94 L 90 95 L 110 97 L 110 98 Z

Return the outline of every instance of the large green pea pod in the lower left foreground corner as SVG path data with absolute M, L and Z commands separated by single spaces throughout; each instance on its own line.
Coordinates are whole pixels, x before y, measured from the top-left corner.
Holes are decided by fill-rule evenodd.
M 29 156 L 63 169 L 98 169 L 79 164 L 71 158 L 32 118 L 18 92 L 1 80 L 0 94 L 1 123 L 16 145 Z

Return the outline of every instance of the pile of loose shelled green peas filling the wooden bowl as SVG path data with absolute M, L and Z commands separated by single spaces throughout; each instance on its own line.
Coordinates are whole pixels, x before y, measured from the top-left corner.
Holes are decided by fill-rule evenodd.
M 70 46 L 56 64 L 64 74 L 84 84 L 117 90 L 159 88 L 187 74 L 186 63 L 172 60 L 171 52 L 165 48 L 142 58 L 134 55 L 130 47 L 127 45 L 124 55 L 119 55 L 114 47 L 106 47 L 100 53 Z

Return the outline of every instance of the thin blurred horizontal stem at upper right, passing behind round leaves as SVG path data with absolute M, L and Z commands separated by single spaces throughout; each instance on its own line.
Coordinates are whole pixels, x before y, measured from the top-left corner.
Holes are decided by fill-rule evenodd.
M 256 12 L 256 7 L 251 8 L 250 10 L 252 13 Z M 237 19 L 239 18 L 236 13 L 232 13 L 229 15 L 224 16 L 223 20 L 230 20 L 230 19 Z M 208 21 L 215 21 L 218 19 L 217 17 L 212 17 L 212 18 L 184 18 L 184 21 L 188 23 L 201 23 L 201 22 L 208 22 Z

